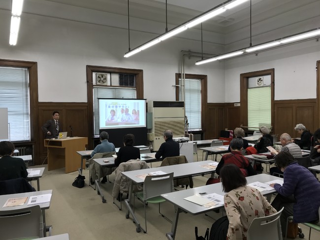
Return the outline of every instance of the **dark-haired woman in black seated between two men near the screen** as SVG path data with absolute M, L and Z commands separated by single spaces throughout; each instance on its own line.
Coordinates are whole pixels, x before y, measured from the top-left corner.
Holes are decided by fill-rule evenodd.
M 126 134 L 123 139 L 124 146 L 120 147 L 117 158 L 114 163 L 118 167 L 121 163 L 125 163 L 131 159 L 140 159 L 140 150 L 137 147 L 134 147 L 134 135 Z

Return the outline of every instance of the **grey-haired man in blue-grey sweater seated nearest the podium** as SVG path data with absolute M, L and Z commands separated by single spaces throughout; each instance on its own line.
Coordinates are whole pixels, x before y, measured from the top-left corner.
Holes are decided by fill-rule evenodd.
M 91 158 L 96 153 L 115 152 L 116 151 L 116 148 L 115 148 L 114 144 L 109 142 L 108 139 L 109 139 L 109 134 L 107 132 L 103 131 L 103 132 L 100 133 L 101 144 L 97 145 L 95 147 L 95 149 L 92 151 Z M 97 175 L 97 171 L 98 171 L 99 168 L 97 166 L 95 166 L 95 162 L 94 161 L 89 162 L 89 164 L 90 164 L 90 174 L 91 174 L 90 182 L 91 182 L 91 184 L 94 184 L 92 176 L 95 175 L 95 174 Z M 106 181 L 107 181 L 107 176 L 103 176 L 101 182 L 104 183 Z

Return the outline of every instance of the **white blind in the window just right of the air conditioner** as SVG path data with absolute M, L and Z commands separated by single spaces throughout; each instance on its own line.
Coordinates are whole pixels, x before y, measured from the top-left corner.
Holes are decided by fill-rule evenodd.
M 181 85 L 181 79 L 179 79 Z M 179 91 L 181 100 L 181 88 Z M 189 130 L 201 129 L 201 80 L 185 79 L 185 108 Z

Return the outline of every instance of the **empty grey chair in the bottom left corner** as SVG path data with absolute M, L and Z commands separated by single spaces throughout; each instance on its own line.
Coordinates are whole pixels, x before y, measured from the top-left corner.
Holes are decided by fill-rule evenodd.
M 39 205 L 0 211 L 1 239 L 34 239 L 43 237 Z

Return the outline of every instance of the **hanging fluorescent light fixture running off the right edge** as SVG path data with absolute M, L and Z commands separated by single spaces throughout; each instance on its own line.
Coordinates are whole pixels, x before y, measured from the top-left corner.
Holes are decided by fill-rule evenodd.
M 262 44 L 259 44 L 256 46 L 244 48 L 242 50 L 237 50 L 237 51 L 230 52 L 230 53 L 220 55 L 217 57 L 200 60 L 200 61 L 197 61 L 195 63 L 195 65 L 201 65 L 201 64 L 206 64 L 206 63 L 214 62 L 217 60 L 221 60 L 221 59 L 232 58 L 235 56 L 239 56 L 239 55 L 243 54 L 244 52 L 248 52 L 248 53 L 256 52 L 258 50 L 269 49 L 269 48 L 273 48 L 273 47 L 280 46 L 280 45 L 286 45 L 288 43 L 297 42 L 297 41 L 305 40 L 305 39 L 308 39 L 311 37 L 316 37 L 316 36 L 320 36 L 320 28 L 318 28 L 316 30 L 311 30 L 308 32 L 300 33 L 300 34 L 295 34 L 293 36 L 286 36 L 281 39 L 277 39 L 277 40 L 274 40 L 271 42 L 266 42 L 266 43 L 262 43 Z

